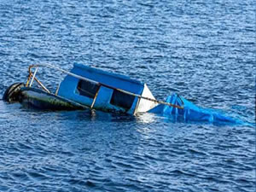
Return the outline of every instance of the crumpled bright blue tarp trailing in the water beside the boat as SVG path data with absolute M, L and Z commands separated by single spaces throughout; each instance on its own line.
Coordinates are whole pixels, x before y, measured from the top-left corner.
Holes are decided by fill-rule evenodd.
M 177 96 L 177 94 L 168 96 L 166 102 L 177 106 L 183 106 L 184 108 L 179 109 L 160 104 L 157 107 L 151 109 L 149 113 L 158 113 L 164 116 L 170 116 L 172 119 L 185 122 L 201 121 L 220 125 L 241 124 L 241 120 L 239 119 L 231 118 L 227 115 L 224 115 L 224 113 L 220 113 L 214 109 L 200 108 L 194 103 L 184 99 L 182 96 Z

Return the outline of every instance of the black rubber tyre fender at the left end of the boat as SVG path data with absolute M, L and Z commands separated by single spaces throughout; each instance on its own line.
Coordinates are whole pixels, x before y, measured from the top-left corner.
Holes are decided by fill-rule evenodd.
M 3 101 L 5 102 L 19 102 L 20 89 L 24 87 L 23 83 L 11 84 L 3 94 Z

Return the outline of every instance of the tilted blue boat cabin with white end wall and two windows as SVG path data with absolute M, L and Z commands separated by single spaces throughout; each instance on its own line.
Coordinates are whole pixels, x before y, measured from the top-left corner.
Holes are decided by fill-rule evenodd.
M 67 74 L 60 84 L 57 96 L 89 108 L 131 114 L 147 112 L 157 105 L 155 102 L 138 97 L 155 100 L 146 84 L 124 75 L 78 63 L 73 65 L 71 73 L 84 79 Z

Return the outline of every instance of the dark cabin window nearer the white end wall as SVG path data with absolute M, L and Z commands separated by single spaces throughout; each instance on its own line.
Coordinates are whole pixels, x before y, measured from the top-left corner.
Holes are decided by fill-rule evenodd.
M 135 96 L 125 94 L 119 90 L 113 90 L 110 103 L 121 108 L 130 109 Z

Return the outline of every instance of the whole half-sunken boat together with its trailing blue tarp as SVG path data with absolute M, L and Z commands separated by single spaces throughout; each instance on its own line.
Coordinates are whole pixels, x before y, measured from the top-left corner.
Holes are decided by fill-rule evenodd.
M 65 73 L 66 76 L 49 91 L 36 77 L 39 67 L 47 67 Z M 33 72 L 32 72 L 33 71 Z M 75 63 L 68 72 L 49 64 L 32 65 L 26 84 L 15 83 L 3 95 L 6 102 L 20 102 L 27 106 L 50 110 L 77 110 L 89 108 L 111 113 L 157 113 L 185 122 L 203 121 L 216 124 L 237 124 L 216 110 L 200 108 L 182 96 L 173 94 L 166 102 L 154 98 L 147 84 L 117 73 L 109 73 L 95 67 Z M 37 82 L 39 88 L 32 86 Z

